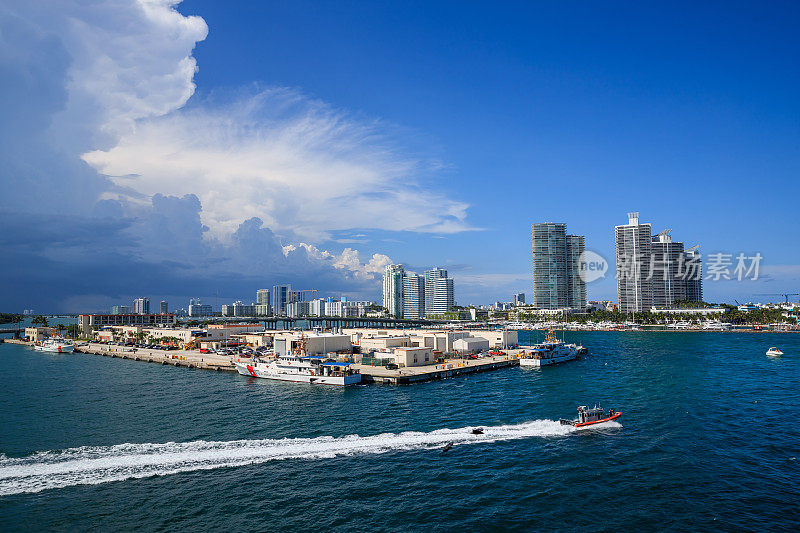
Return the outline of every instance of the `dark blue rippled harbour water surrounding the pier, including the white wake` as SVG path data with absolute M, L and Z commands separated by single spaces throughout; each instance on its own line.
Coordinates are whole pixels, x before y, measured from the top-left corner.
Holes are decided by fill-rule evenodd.
M 0 530 L 800 527 L 800 335 L 567 340 L 348 389 L 0 345 Z M 558 423 L 595 402 L 620 423 Z

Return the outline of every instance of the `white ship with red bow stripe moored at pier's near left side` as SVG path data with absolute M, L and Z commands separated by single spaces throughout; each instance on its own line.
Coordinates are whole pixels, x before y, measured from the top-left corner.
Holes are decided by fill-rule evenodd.
M 350 363 L 340 363 L 321 355 L 286 355 L 265 361 L 235 361 L 243 376 L 322 385 L 357 385 L 361 374 Z

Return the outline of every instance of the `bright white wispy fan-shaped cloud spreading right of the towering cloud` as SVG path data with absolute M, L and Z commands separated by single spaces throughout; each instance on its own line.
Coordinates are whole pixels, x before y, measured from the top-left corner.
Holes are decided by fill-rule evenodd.
M 251 217 L 313 242 L 364 228 L 471 229 L 466 203 L 425 185 L 435 163 L 406 154 L 392 131 L 296 90 L 268 88 L 141 120 L 84 160 L 146 196 L 196 194 L 218 238 Z

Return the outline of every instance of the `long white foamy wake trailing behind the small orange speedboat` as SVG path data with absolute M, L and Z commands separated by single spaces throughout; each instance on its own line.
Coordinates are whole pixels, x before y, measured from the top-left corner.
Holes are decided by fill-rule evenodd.
M 620 427 L 607 422 L 603 427 Z M 438 448 L 531 437 L 558 437 L 576 430 L 553 420 L 483 428 L 438 429 L 430 433 L 408 431 L 360 437 L 317 437 L 235 441 L 167 442 L 82 446 L 61 451 L 38 452 L 27 457 L 0 455 L 0 496 L 39 492 L 75 485 L 163 476 L 179 472 L 212 470 L 264 463 L 280 459 L 323 459 L 395 450 Z

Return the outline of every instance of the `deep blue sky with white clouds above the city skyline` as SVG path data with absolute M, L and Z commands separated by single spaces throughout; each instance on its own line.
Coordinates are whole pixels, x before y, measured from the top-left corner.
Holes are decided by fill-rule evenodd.
M 120 261 L 141 262 L 134 272 L 161 273 L 151 283 L 152 276 L 134 281 L 132 273 L 135 291 L 113 276 L 96 287 L 64 276 L 57 282 L 64 307 L 142 292 L 251 300 L 256 285 L 272 280 L 377 298 L 377 272 L 387 261 L 449 267 L 462 304 L 509 300 L 530 292 L 532 222 L 566 222 L 586 235 L 588 248 L 611 257 L 613 226 L 628 211 L 706 254 L 764 256 L 764 281 L 706 283 L 707 299 L 800 292 L 794 3 L 188 0 L 176 9 L 202 21 L 161 6 L 145 13 L 152 29 L 109 42 L 114 32 L 130 37 L 128 22 L 143 16 L 125 4 L 108 8 L 111 22 L 108 11 L 64 8 L 65 20 L 103 30 L 95 46 L 65 31 L 58 14 L 42 21 L 23 3 L 5 13 L 34 27 L 6 39 L 22 48 L 35 37 L 42 50 L 60 40 L 72 58 L 58 76 L 35 68 L 48 59 L 0 59 L 0 67 L 6 61 L 53 78 L 42 101 L 63 93 L 65 103 L 43 119 L 49 137 L 30 137 L 74 160 L 77 177 L 64 194 L 76 183 L 86 193 L 71 203 L 80 204 L 75 212 L 54 210 L 103 220 L 124 213 L 126 221 L 109 242 L 65 242 L 56 259 L 23 249 L 32 230 L 7 236 L 5 246 L 28 262 L 54 260 L 52 268 L 78 273 L 89 268 L 84 258 L 110 247 Z M 126 64 L 130 54 L 122 52 L 137 39 L 147 53 L 133 48 L 137 63 Z M 75 79 L 106 72 L 92 65 L 107 65 L 98 56 L 114 47 L 120 53 L 109 55 L 125 76 L 141 72 L 125 80 L 141 105 L 101 98 L 97 84 L 76 86 Z M 186 70 L 186 58 L 196 61 L 196 73 Z M 103 95 L 127 94 L 100 77 L 109 84 Z M 34 99 L 29 91 L 12 96 Z M 67 142 L 76 135 L 65 133 L 65 117 L 84 117 L 76 102 L 94 100 L 108 112 L 86 121 L 80 143 Z M 61 141 L 52 140 L 53 130 Z M 195 155 L 176 161 L 187 153 Z M 12 184 L 15 176 L 2 179 Z M 35 198 L 55 194 L 19 187 Z M 153 202 L 156 195 L 164 200 Z M 0 203 L 0 215 L 27 210 L 54 212 Z M 253 217 L 261 224 L 244 224 Z M 154 220 L 183 231 L 169 240 Z M 176 246 L 186 249 L 170 257 Z M 182 260 L 191 265 L 170 262 Z M 0 274 L 37 287 L 56 283 L 27 270 L 20 263 Z M 614 280 L 591 284 L 589 297 L 616 299 Z M 46 305 L 21 291 L 0 303 L 29 301 Z

